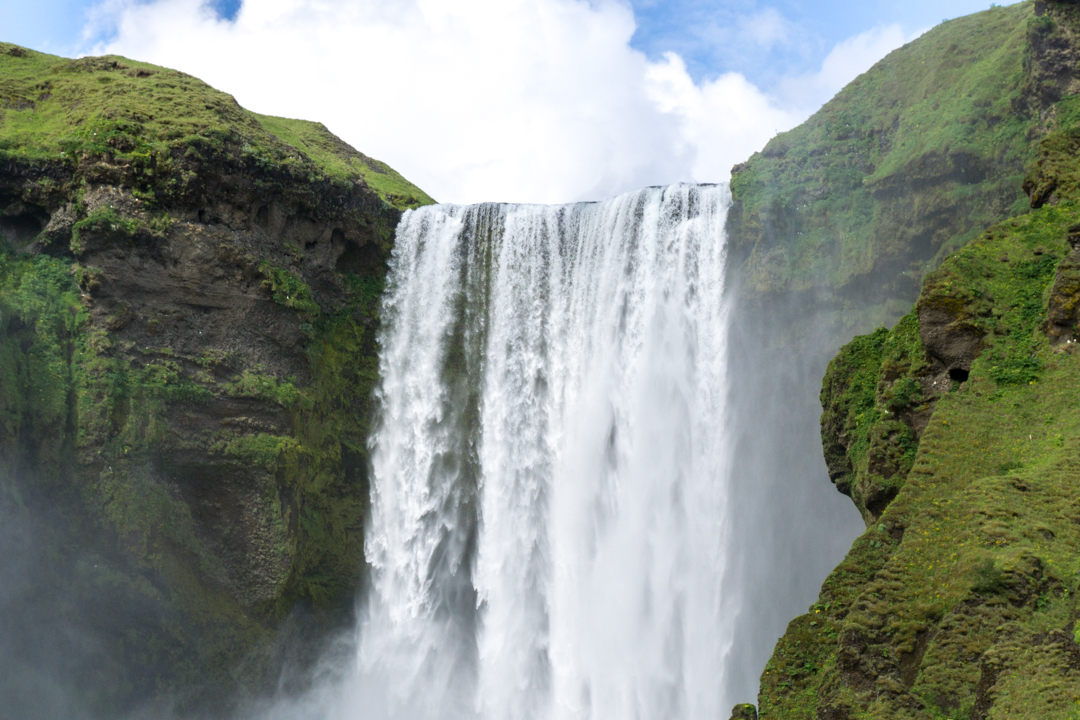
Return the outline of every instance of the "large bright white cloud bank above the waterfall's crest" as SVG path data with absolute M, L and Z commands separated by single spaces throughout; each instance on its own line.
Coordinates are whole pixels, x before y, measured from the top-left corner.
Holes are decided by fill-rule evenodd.
M 783 40 L 769 15 L 761 42 Z M 173 67 L 266 114 L 318 120 L 442 202 L 597 200 L 724 181 L 906 38 L 878 28 L 773 93 L 694 83 L 631 47 L 616 0 L 108 0 L 95 54 Z

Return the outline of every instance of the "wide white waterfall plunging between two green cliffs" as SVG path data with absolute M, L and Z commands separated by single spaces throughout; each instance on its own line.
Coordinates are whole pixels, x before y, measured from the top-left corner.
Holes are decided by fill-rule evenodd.
M 405 214 L 357 717 L 726 717 L 729 203 Z

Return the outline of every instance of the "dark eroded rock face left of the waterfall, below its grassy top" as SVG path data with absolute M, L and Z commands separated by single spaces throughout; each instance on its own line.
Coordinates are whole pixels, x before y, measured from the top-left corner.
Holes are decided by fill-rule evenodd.
M 87 678 L 71 695 L 96 693 L 106 717 L 161 697 L 220 709 L 270 687 L 282 622 L 320 619 L 303 621 L 319 642 L 348 621 L 363 563 L 377 302 L 400 210 L 361 184 L 227 159 L 194 171 L 168 204 L 117 159 L 0 168 L 0 475 L 18 478 L 13 513 L 57 529 L 42 552 L 83 569 L 39 563 L 25 584 L 70 578 L 78 610 L 28 610 L 19 593 L 0 609 L 27 619 L 26 648 L 42 644 L 35 626 L 92 639 L 60 651 L 64 671 Z M 70 322 L 46 330 L 38 312 Z M 48 420 L 39 385 L 56 398 Z

